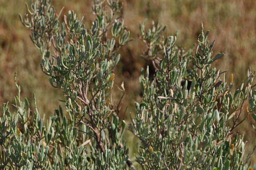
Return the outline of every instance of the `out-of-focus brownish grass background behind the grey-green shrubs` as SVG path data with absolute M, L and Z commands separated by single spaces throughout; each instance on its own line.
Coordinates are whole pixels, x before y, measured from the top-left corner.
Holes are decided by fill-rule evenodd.
M 22 26 L 18 14 L 26 12 L 25 1 L 0 0 L 0 103 L 13 102 L 17 94 L 14 85 L 14 72 L 18 72 L 18 84 L 22 87 L 22 96 L 33 101 L 36 94 L 38 110 L 46 117 L 54 113 L 61 103 L 60 89 L 50 86 L 48 77 L 40 69 L 41 55 L 30 41 L 30 31 Z M 74 10 L 78 17 L 85 14 L 85 24 L 91 25 L 92 0 L 52 0 L 57 13 L 64 6 L 64 12 Z M 148 63 L 140 58 L 143 43 L 138 39 L 138 24 L 148 18 L 168 25 L 169 33 L 179 31 L 177 44 L 192 47 L 197 42 L 201 22 L 205 30 L 210 30 L 210 41 L 216 39 L 214 53 L 223 52 L 225 57 L 214 63 L 221 70 L 229 70 L 228 77 L 234 74 L 235 88 L 246 79 L 246 70 L 251 66 L 256 70 L 256 1 L 255 0 L 123 0 L 122 15 L 125 25 L 135 40 L 121 48 L 121 62 L 116 68 L 116 85 L 124 81 L 126 96 L 123 110 L 128 109 L 125 117 L 130 122 L 130 112 L 134 115 L 134 100 L 140 101 L 138 77 L 140 69 Z M 115 98 L 122 94 L 114 94 Z M 246 122 L 236 128 L 245 132 L 248 141 L 247 150 L 255 145 L 255 131 L 252 129 L 251 115 Z M 130 134 L 130 133 L 128 133 Z M 127 138 L 128 145 L 134 145 L 134 137 Z M 254 163 L 256 154 L 254 154 Z

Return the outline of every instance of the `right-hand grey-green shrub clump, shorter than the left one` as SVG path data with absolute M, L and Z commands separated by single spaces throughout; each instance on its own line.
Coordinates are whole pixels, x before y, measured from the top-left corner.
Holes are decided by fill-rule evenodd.
M 204 33 L 203 25 L 195 54 L 177 47 L 176 36 L 162 36 L 165 27 L 159 23 L 147 31 L 142 23 L 140 29 L 144 56 L 156 73 L 150 81 L 149 69 L 142 69 L 142 103 L 136 103 L 129 127 L 141 142 L 137 162 L 145 169 L 244 169 L 253 152 L 243 159 L 246 142 L 234 128 L 255 111 L 255 72 L 249 68 L 246 84 L 233 94 L 233 74 L 227 83 L 226 71 L 211 68 L 224 53 L 213 55 L 215 40 L 207 41 L 209 31 Z

